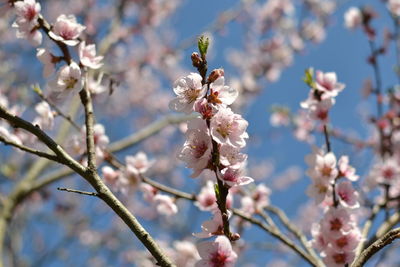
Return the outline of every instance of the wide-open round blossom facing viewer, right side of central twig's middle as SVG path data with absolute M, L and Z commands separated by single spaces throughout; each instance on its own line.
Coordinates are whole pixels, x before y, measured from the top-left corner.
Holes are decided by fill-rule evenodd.
M 227 143 L 234 147 L 242 148 L 246 145 L 245 139 L 249 137 L 246 132 L 248 122 L 230 108 L 221 107 L 210 123 L 211 136 L 219 143 Z

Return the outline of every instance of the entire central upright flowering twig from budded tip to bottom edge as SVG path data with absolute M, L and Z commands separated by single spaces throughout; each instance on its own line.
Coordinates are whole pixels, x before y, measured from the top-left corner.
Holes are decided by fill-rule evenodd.
M 197 200 L 196 205 L 200 209 L 210 210 L 213 213 L 213 219 L 204 222 L 202 232 L 196 234 L 197 237 L 203 238 L 227 235 L 226 225 L 230 214 L 227 208 L 232 202 L 229 189 L 246 185 L 253 179 L 244 174 L 247 155 L 240 152 L 249 137 L 246 132 L 248 122 L 229 107 L 238 97 L 238 91 L 225 85 L 223 69 L 215 69 L 206 77 L 202 64 L 207 48 L 205 51 L 201 48 L 202 43 L 199 41 L 201 56 L 193 53 L 192 62 L 203 76 L 190 73 L 188 76 L 179 78 L 174 84 L 177 97 L 170 102 L 169 106 L 172 110 L 186 114 L 192 112 L 199 114 L 187 123 L 186 141 L 178 158 L 193 170 L 192 177 L 197 177 L 204 170 L 209 169 L 215 173 L 218 182 L 216 188 L 212 183 L 207 183 Z M 231 238 L 230 235 L 231 233 L 227 236 Z M 225 241 L 229 244 L 228 239 L 219 237 L 211 243 L 211 247 L 218 248 L 220 243 Z M 233 264 L 236 259 L 234 252 L 228 253 L 234 255 L 232 260 L 228 261 L 229 255 L 225 253 L 219 255 L 218 251 L 219 249 L 217 252 L 209 251 L 205 255 L 199 248 L 199 254 L 203 260 L 198 264 L 204 265 L 207 260 L 216 262 L 215 257 L 218 258 L 218 264 L 222 264 L 218 266 L 228 266 L 228 262 Z

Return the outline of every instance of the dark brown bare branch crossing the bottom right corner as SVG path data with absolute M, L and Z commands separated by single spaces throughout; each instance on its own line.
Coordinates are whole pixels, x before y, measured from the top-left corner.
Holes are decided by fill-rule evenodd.
M 358 256 L 351 267 L 362 267 L 364 264 L 376 253 L 378 253 L 385 246 L 391 244 L 395 239 L 400 238 L 400 228 L 392 229 L 384 236 L 376 240 Z

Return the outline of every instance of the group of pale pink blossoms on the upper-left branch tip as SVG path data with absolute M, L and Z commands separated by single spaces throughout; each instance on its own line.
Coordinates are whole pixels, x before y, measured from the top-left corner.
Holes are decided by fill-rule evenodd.
M 94 44 L 86 45 L 81 41 L 82 32 L 85 26 L 79 24 L 74 15 L 61 14 L 53 25 L 48 26 L 47 22 L 40 15 L 41 6 L 35 0 L 16 1 L 14 3 L 16 20 L 13 27 L 17 29 L 17 37 L 29 40 L 34 46 L 42 43 L 43 29 L 48 36 L 59 46 L 73 47 L 80 43 L 77 48 L 79 64 L 76 63 L 69 53 L 63 50 L 62 56 L 53 55 L 48 49 L 38 48 L 37 58 L 42 62 L 43 76 L 49 78 L 56 69 L 56 64 L 65 61 L 54 79 L 48 83 L 49 90 L 57 97 L 79 90 L 82 88 L 82 67 L 98 69 L 102 66 L 102 56 L 96 56 Z

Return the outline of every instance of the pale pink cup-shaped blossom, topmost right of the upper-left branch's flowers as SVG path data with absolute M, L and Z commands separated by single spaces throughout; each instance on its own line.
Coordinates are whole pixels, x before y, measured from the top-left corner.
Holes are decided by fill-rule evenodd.
M 51 38 L 61 41 L 69 46 L 75 46 L 79 43 L 78 37 L 86 29 L 85 26 L 76 21 L 74 15 L 60 15 L 49 32 Z

